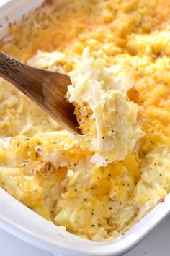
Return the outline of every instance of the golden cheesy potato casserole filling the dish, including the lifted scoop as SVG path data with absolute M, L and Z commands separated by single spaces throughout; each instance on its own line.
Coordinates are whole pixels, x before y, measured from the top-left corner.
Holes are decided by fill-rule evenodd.
M 58 226 L 104 241 L 170 191 L 170 2 L 46 1 L 1 50 L 71 75 L 82 136 L 0 80 L 0 186 Z M 83 54 L 83 59 L 81 56 Z M 29 106 L 29 107 L 28 107 Z

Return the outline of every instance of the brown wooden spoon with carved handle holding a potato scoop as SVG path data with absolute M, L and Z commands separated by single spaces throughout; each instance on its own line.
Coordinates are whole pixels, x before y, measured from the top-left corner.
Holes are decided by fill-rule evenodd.
M 65 98 L 71 85 L 68 75 L 30 67 L 0 51 L 0 76 L 35 101 L 62 127 L 80 133 L 74 107 Z

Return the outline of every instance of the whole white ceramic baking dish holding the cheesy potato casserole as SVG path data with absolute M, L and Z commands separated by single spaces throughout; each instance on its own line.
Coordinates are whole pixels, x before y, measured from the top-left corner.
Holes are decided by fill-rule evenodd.
M 40 4 L 42 0 L 0 0 L 0 36 L 7 35 L 9 22 L 19 19 Z M 109 242 L 91 242 L 70 234 L 38 216 L 1 188 L 0 209 L 2 229 L 54 255 L 113 256 L 122 255 L 135 247 L 170 212 L 170 195 L 125 235 Z

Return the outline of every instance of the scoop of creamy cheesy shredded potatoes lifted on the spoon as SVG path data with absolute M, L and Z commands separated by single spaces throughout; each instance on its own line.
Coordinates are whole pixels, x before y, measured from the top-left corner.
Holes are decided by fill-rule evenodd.
M 131 86 L 128 74 L 117 76 L 114 67 L 104 67 L 86 48 L 70 75 L 66 98 L 76 107 L 81 145 L 94 151 L 91 161 L 99 167 L 125 159 L 143 136 L 140 108 L 126 95 Z

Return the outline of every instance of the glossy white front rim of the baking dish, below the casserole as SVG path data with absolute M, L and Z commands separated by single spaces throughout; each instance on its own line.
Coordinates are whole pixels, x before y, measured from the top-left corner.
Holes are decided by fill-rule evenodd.
M 63 227 L 55 226 L 55 224 L 50 223 L 50 221 L 45 220 L 33 210 L 30 210 L 17 199 L 9 195 L 4 189 L 0 188 L 0 227 L 5 231 L 17 236 L 24 242 L 28 242 L 36 247 L 45 249 L 48 252 L 60 253 L 60 255 L 69 256 L 113 256 L 122 255 L 128 252 L 130 249 L 135 247 L 145 236 L 155 227 L 157 224 L 170 213 L 170 193 L 166 196 L 164 202 L 158 203 L 150 213 L 144 216 L 141 221 L 132 226 L 125 235 L 119 236 L 116 239 L 112 239 L 105 242 L 94 242 L 83 239 L 79 236 L 69 233 L 64 230 Z M 7 203 L 6 203 L 7 202 Z M 3 213 L 8 210 L 7 214 Z M 16 219 L 12 220 L 11 213 L 9 209 L 12 209 L 14 213 L 17 213 Z M 20 219 L 24 217 L 27 222 L 20 223 Z M 15 217 L 16 218 L 16 217 Z M 35 227 L 32 231 L 30 229 L 30 224 L 34 223 Z M 37 226 L 36 226 L 37 225 Z M 53 239 L 53 237 L 45 236 L 41 232 L 40 227 L 44 229 L 45 234 L 50 231 L 51 234 L 60 236 L 63 239 L 63 244 L 58 239 Z M 64 239 L 67 241 L 64 242 Z M 71 246 L 71 242 L 75 242 Z M 81 249 L 80 249 L 80 247 Z M 91 254 L 92 251 L 92 254 Z M 81 254 L 80 254 L 81 253 Z

